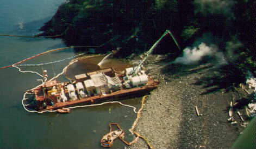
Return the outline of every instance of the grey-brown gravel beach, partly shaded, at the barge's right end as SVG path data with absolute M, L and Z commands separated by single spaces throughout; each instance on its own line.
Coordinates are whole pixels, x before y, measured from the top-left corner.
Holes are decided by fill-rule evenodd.
M 217 74 L 210 63 L 173 70 L 163 62 L 165 56 L 152 55 L 145 68 L 160 84 L 147 96 L 145 108 L 135 131 L 147 138 L 154 148 L 230 148 L 243 127 L 227 122 L 230 101 L 241 98 L 235 91 L 205 86 L 198 81 Z M 176 72 L 175 72 L 176 71 Z M 207 81 L 207 80 L 206 80 Z M 195 106 L 201 116 L 197 116 Z M 148 148 L 140 139 L 127 148 Z

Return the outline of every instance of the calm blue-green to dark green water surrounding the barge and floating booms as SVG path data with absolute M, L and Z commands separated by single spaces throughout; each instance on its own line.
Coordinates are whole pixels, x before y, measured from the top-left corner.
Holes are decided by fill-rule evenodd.
M 0 34 L 33 35 L 43 23 L 50 20 L 63 0 L 21 0 L 0 2 Z M 21 22 L 22 27 L 21 27 Z M 20 24 L 19 24 L 20 23 Z M 0 67 L 13 64 L 49 49 L 65 47 L 61 40 L 0 36 Z M 74 56 L 72 49 L 47 54 L 27 61 L 37 64 Z M 58 74 L 68 64 L 63 61 L 43 67 L 21 67 L 22 70 Z M 0 148 L 102 148 L 101 137 L 108 133 L 109 122 L 117 122 L 126 131 L 132 126 L 135 113 L 132 108 L 117 103 L 98 107 L 73 109 L 70 114 L 26 112 L 21 104 L 24 90 L 39 85 L 38 75 L 20 73 L 16 68 L 0 70 Z M 66 81 L 64 76 L 60 81 Z M 139 107 L 140 99 L 123 100 Z M 115 141 L 113 148 L 124 148 Z

